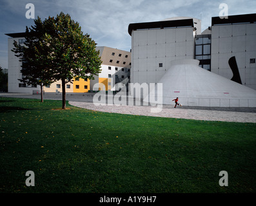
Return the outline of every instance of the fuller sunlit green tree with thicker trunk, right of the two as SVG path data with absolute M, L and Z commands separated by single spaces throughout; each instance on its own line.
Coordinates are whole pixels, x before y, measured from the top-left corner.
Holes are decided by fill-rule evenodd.
M 61 80 L 63 93 L 63 109 L 66 108 L 66 83 L 73 79 L 93 79 L 101 70 L 101 57 L 96 51 L 96 44 L 81 31 L 79 23 L 75 23 L 68 14 L 49 17 L 44 21 L 47 32 L 43 44 L 50 48 L 48 57 L 54 80 Z

